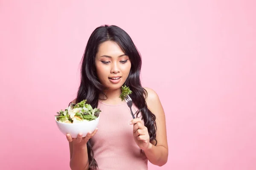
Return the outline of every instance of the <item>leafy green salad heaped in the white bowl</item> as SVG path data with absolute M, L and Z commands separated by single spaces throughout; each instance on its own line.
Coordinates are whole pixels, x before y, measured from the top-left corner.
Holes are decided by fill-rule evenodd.
M 56 120 L 64 123 L 77 123 L 97 119 L 101 110 L 98 108 L 93 109 L 86 101 L 83 100 L 77 104 L 71 103 L 64 111 L 57 112 L 58 115 L 55 115 Z

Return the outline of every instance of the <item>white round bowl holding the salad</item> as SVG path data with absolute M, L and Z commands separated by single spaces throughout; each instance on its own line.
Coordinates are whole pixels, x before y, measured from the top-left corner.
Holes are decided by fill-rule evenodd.
M 100 117 L 100 116 L 99 116 Z M 99 124 L 99 117 L 91 121 L 83 121 L 77 123 L 63 123 L 58 122 L 55 118 L 55 122 L 59 130 L 66 135 L 69 133 L 72 138 L 77 138 L 78 133 L 82 133 L 82 137 L 86 136 L 88 132 L 93 133 Z

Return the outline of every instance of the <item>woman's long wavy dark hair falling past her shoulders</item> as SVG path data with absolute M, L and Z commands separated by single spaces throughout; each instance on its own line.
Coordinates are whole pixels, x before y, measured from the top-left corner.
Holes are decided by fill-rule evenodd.
M 156 122 L 155 115 L 148 109 L 145 99 L 147 97 L 147 91 L 141 86 L 140 82 L 140 70 L 141 70 L 141 55 L 137 50 L 131 37 L 118 26 L 99 26 L 90 35 L 87 42 L 84 55 L 81 60 L 81 83 L 77 92 L 76 103 L 81 102 L 83 99 L 87 99 L 87 103 L 93 108 L 98 107 L 99 95 L 104 94 L 104 90 L 107 89 L 99 82 L 96 74 L 95 57 L 98 52 L 99 45 L 105 41 L 114 41 L 124 51 L 131 61 L 131 70 L 126 79 L 124 85 L 128 86 L 132 94 L 131 96 L 134 104 L 138 108 L 138 114 L 141 113 L 144 125 L 148 128 L 150 141 L 156 139 Z M 93 150 L 91 141 L 87 143 L 89 169 L 95 169 L 98 167 L 96 160 L 93 158 Z

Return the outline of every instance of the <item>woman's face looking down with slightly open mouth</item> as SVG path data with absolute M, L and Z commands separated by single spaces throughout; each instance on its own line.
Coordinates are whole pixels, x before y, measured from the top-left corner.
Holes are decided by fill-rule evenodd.
M 99 81 L 111 90 L 120 88 L 131 70 L 129 57 L 113 41 L 99 45 L 95 65 Z

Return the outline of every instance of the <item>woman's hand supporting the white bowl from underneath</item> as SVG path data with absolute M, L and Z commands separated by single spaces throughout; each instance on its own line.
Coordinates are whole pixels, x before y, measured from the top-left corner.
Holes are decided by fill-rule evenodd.
M 86 145 L 90 138 L 92 138 L 96 132 L 98 131 L 98 128 L 96 128 L 93 133 L 87 133 L 86 136 L 82 138 L 82 134 L 79 133 L 77 138 L 72 138 L 70 134 L 67 133 L 66 137 L 68 142 L 73 142 L 73 145 Z

